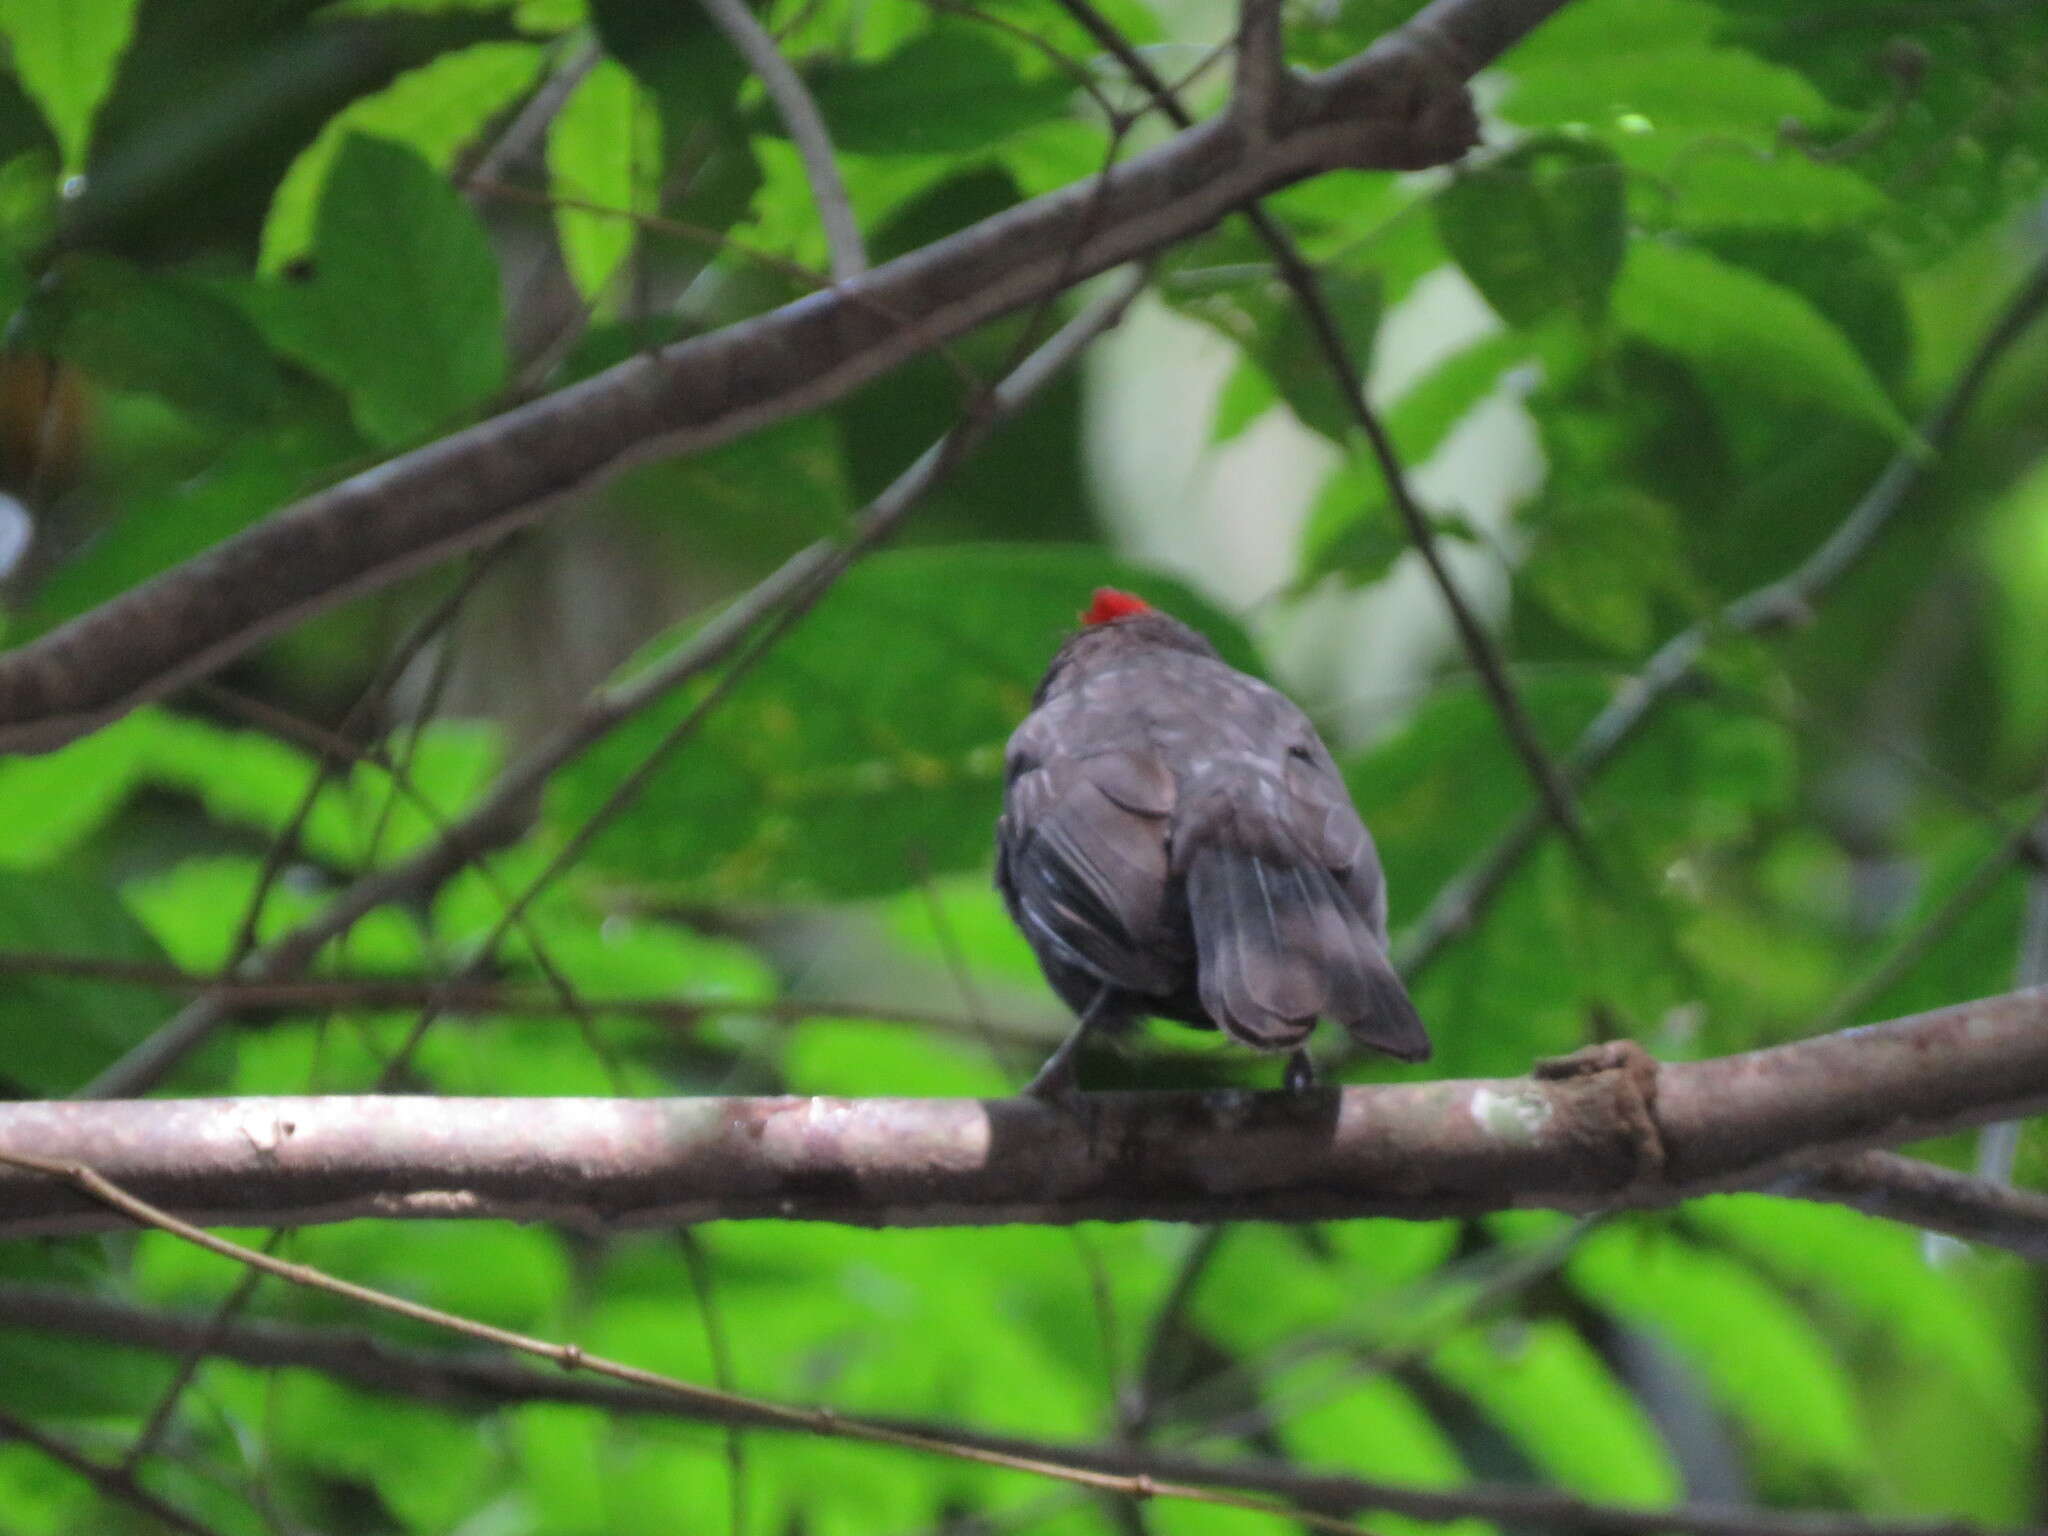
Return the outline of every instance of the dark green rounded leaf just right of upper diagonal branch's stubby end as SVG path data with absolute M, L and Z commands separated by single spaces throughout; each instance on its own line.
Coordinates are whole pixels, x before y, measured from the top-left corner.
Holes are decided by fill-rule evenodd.
M 1628 188 L 1602 145 L 1528 139 L 1460 170 L 1432 207 L 1444 250 L 1509 326 L 1606 313 L 1628 238 Z

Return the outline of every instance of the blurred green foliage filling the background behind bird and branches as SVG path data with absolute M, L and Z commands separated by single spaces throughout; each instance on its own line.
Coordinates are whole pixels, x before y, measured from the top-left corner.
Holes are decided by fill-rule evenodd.
M 1346 57 L 1411 8 L 1290 6 L 1290 57 Z M 1229 33 L 1200 6 L 1104 10 L 1176 78 Z M 877 258 L 1161 131 L 1112 145 L 1104 102 L 1139 98 L 1053 0 L 999 14 L 778 0 L 766 18 L 831 125 Z M 780 121 L 688 4 L 4 0 L 0 31 L 8 643 L 354 467 L 784 303 L 825 262 Z M 1386 406 L 1415 465 L 1528 457 L 1505 516 L 1454 494 L 1432 512 L 1491 596 L 1552 750 L 1661 637 L 1782 573 L 1913 449 L 1909 420 L 2042 248 L 2044 66 L 2048 10 L 2030 4 L 1579 0 L 1483 82 L 1489 147 L 1468 168 L 1343 172 L 1270 201 L 1360 354 L 1411 301 L 1483 307 L 1470 340 L 1380 358 L 1407 375 Z M 565 72 L 541 141 L 492 164 L 518 106 Z M 1190 100 L 1214 111 L 1225 78 L 1202 74 Z M 1112 395 L 1169 389 L 1124 348 L 999 432 L 545 885 L 494 975 L 535 981 L 545 961 L 592 1020 L 446 1018 L 406 1051 L 410 1012 L 272 1010 L 170 1090 L 1010 1092 L 1061 1018 L 985 883 L 999 748 L 1098 582 L 1200 623 L 1329 723 L 1395 924 L 1413 922 L 1524 809 L 1526 776 L 1407 586 L 1413 557 L 1264 250 L 1237 225 L 1188 242 L 1145 305 L 1135 326 L 1202 326 L 1229 348 L 1192 424 L 1204 455 L 1264 434 L 1233 461 L 1253 487 L 1313 467 L 1300 516 L 1253 496 L 1233 524 L 1284 582 L 1247 594 L 1186 551 L 1161 569 L 1178 537 L 1145 528 L 1090 451 Z M 420 846 L 612 668 L 842 530 L 954 420 L 956 367 L 997 369 L 1020 330 L 635 471 L 479 573 L 356 602 L 221 688 L 0 762 L 0 948 L 229 965 Z M 2048 741 L 2044 383 L 2034 342 L 1810 625 L 1712 649 L 1710 680 L 1585 795 L 1618 889 L 1540 848 L 1419 977 L 1440 1057 L 1417 1075 L 1518 1073 L 1614 1034 L 1716 1055 L 2042 979 L 2028 967 L 2048 948 L 2048 899 L 2011 831 L 2040 811 Z M 1135 565 L 1137 549 L 1153 561 Z M 473 582 L 461 616 L 354 709 L 459 582 Z M 1335 649 L 1360 614 L 1423 657 L 1391 692 L 1370 657 Z M 571 764 L 518 846 L 375 913 L 324 969 L 465 967 L 506 893 L 688 705 Z M 324 772 L 279 713 L 381 737 L 401 782 L 369 762 Z M 676 1028 L 631 1006 L 647 997 L 715 1010 Z M 10 965 L 0 1079 L 70 1094 L 172 1008 L 158 989 Z M 1087 1073 L 1264 1083 L 1272 1067 L 1161 1030 Z M 1931 1151 L 1972 1165 L 1999 1143 Z M 2015 1174 L 2048 1180 L 2038 1126 L 2017 1137 Z M 600 1245 L 356 1223 L 285 1251 L 848 1413 L 1149 1436 L 1417 1485 L 2040 1516 L 2040 1290 L 2005 1255 L 1761 1198 L 1585 1233 L 1540 1214 L 1243 1227 L 1182 1309 L 1169 1296 L 1196 1243 L 1171 1227 L 748 1223 Z M 182 1309 L 215 1307 L 238 1278 L 158 1235 L 12 1243 L 0 1276 Z M 246 1305 L 360 1323 L 272 1284 Z M 88 1454 L 135 1442 L 174 1364 L 8 1329 L 0 1305 L 0 1407 Z M 735 1450 L 711 1427 L 592 1409 L 371 1399 L 223 1362 L 199 1368 L 139 1470 L 221 1532 L 1284 1524 L 809 1438 Z M 0 1532 L 143 1524 L 0 1444 Z

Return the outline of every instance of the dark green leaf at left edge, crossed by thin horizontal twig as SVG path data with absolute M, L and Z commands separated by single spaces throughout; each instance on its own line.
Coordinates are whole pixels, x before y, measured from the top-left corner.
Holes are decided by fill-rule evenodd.
M 104 881 L 70 872 L 0 870 L 0 950 L 164 963 L 164 952 Z M 0 1079 L 39 1096 L 70 1094 L 166 1014 L 162 995 L 131 985 L 4 977 Z

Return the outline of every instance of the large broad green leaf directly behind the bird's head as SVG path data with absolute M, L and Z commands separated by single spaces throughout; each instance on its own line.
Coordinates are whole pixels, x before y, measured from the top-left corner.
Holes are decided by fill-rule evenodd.
M 598 838 L 594 862 L 725 901 L 879 895 L 920 868 L 983 866 L 1004 741 L 1100 584 L 1157 600 L 1229 659 L 1255 666 L 1212 606 L 1096 551 L 883 555 L 719 705 Z M 649 711 L 571 764 L 549 819 L 592 815 L 686 707 Z

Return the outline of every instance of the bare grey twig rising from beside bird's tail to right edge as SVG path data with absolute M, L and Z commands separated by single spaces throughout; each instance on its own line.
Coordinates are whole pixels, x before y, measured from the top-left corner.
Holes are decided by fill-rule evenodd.
M 1913 446 L 1903 449 L 1835 530 L 1786 575 L 1729 602 L 1712 618 L 1679 631 L 1657 649 L 1645 668 L 1608 702 L 1565 760 L 1569 784 L 1585 784 L 1626 748 L 1663 702 L 1698 674 L 1708 645 L 1722 635 L 1769 635 L 1812 614 L 1815 604 L 1841 580 L 1884 526 L 1907 504 L 1927 471 L 1927 449 L 1946 444 L 1960 426 L 1976 391 L 1999 358 L 2048 307 L 2048 260 L 2040 262 L 2019 293 L 1976 344 L 1948 397 L 1921 424 Z M 1419 975 L 1466 932 L 1501 893 L 1530 850 L 1542 840 L 1546 813 L 1532 811 L 1516 821 L 1479 858 L 1464 866 L 1430 909 L 1403 934 L 1399 963 L 1409 977 Z

